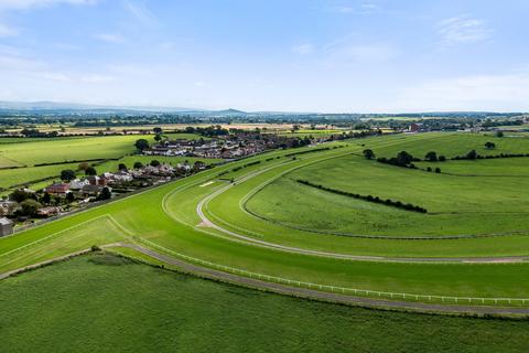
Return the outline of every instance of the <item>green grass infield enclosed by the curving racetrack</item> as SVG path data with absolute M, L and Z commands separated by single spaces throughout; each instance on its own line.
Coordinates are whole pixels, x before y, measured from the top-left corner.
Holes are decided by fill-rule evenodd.
M 463 142 L 479 136 L 452 135 L 406 142 L 409 150 L 435 142 L 441 148 L 455 137 Z M 525 148 L 521 140 L 508 151 Z M 463 145 L 461 142 L 461 145 Z M 399 150 L 401 147 L 381 147 Z M 247 206 L 256 214 L 293 227 L 345 235 L 451 236 L 529 233 L 529 159 L 494 159 L 420 163 L 441 167 L 433 173 L 366 161 L 359 156 L 323 161 L 296 170 L 266 186 Z M 449 174 L 451 173 L 451 174 Z M 428 214 L 396 210 L 311 190 L 296 180 L 363 195 L 422 206 Z M 325 205 L 322 207 L 322 204 Z M 293 206 L 295 205 L 295 206 Z

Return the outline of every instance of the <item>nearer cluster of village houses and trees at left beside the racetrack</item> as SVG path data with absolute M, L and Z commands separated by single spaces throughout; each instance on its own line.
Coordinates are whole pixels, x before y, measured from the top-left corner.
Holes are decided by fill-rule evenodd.
M 99 175 L 93 167 L 88 167 L 85 170 L 87 174 L 80 178 L 77 178 L 74 171 L 64 170 L 60 182 L 36 191 L 21 188 L 13 191 L 9 197 L 0 199 L 0 236 L 12 234 L 15 224 L 30 226 L 35 220 L 55 218 L 121 194 L 188 176 L 207 168 L 210 165 L 202 161 L 193 164 L 184 161 L 173 167 L 152 160 L 148 165 L 137 162 L 133 169 L 120 164 L 119 171 Z

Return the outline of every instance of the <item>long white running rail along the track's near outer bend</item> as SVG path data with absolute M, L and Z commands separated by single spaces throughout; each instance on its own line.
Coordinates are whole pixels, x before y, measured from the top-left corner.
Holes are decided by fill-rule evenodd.
M 413 295 L 413 293 L 404 293 L 404 292 L 378 291 L 378 290 L 369 290 L 369 289 L 357 289 L 357 288 L 347 288 L 347 287 L 339 287 L 339 286 L 305 282 L 305 281 L 299 281 L 299 280 L 293 280 L 293 279 L 277 277 L 277 276 L 251 272 L 251 271 L 239 269 L 239 268 L 234 268 L 225 265 L 202 260 L 199 258 L 195 258 L 181 253 L 173 252 L 171 249 L 168 249 L 161 245 L 158 245 L 155 243 L 152 243 L 141 237 L 138 237 L 137 239 L 140 240 L 141 243 L 144 243 L 149 246 L 158 248 L 162 252 L 173 254 L 185 260 L 198 263 L 201 265 L 219 269 L 225 272 L 241 275 L 249 278 L 257 278 L 259 280 L 283 284 L 288 286 L 295 286 L 300 288 L 317 289 L 317 290 L 343 293 L 343 295 L 376 297 L 376 298 L 386 298 L 386 299 L 414 300 L 414 301 L 440 301 L 443 303 L 455 303 L 455 304 L 487 304 L 487 303 L 493 304 L 494 303 L 494 304 L 508 304 L 508 306 L 514 306 L 514 304 L 525 306 L 526 302 L 529 303 L 529 298 L 486 298 L 486 297 L 478 298 L 478 297 Z

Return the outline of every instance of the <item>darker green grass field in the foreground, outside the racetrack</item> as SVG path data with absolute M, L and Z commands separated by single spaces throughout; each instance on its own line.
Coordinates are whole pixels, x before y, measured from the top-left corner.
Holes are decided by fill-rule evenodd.
M 155 290 L 153 290 L 155 289 Z M 0 284 L 0 351 L 525 352 L 529 322 L 386 312 L 222 285 L 109 255 Z

